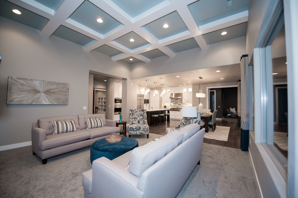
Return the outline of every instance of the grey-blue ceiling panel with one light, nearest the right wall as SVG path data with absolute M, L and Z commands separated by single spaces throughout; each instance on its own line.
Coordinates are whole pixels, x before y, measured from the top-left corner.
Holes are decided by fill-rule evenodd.
M 204 34 L 203 36 L 206 39 L 206 42 L 208 43 L 208 45 L 210 45 L 213 43 L 227 41 L 230 39 L 235 39 L 241 36 L 245 36 L 246 26 L 247 26 L 247 22 L 240 23 L 238 25 L 230 26 L 227 28 L 219 29 L 214 32 Z M 221 35 L 222 32 L 227 32 L 227 34 Z

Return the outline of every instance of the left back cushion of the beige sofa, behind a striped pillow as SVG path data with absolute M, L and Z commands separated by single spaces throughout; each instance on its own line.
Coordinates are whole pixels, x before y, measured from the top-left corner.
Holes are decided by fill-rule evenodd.
M 75 121 L 76 129 L 80 129 L 78 116 L 56 116 L 56 117 L 48 117 L 48 118 L 40 118 L 38 119 L 38 127 L 45 129 L 45 133 L 47 135 L 52 135 L 54 133 L 54 126 L 52 121 Z

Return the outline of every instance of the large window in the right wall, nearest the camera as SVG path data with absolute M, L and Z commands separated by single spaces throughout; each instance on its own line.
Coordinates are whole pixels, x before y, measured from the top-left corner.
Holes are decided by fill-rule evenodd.
M 261 142 L 287 177 L 287 56 L 283 5 L 279 4 L 260 48 Z

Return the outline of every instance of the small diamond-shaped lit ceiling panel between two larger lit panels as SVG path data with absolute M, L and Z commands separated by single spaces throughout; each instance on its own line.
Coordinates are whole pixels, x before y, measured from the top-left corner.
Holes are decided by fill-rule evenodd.
M 129 41 L 130 39 L 134 39 L 134 42 Z M 131 50 L 149 44 L 145 39 L 143 39 L 141 36 L 138 36 L 135 32 L 129 32 L 128 34 L 123 35 L 114 41 Z

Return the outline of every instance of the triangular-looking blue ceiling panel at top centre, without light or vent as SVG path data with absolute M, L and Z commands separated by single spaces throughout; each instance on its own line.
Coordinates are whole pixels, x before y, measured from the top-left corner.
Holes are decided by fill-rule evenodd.
M 164 2 L 165 0 L 111 0 L 132 18 Z

